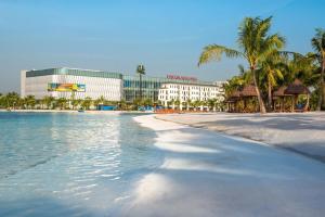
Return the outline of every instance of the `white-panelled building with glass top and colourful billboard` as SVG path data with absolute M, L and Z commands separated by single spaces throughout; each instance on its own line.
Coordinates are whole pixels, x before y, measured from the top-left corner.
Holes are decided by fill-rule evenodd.
M 122 98 L 122 75 L 120 73 L 79 68 L 49 68 L 23 71 L 21 95 L 46 95 L 66 99 L 99 99 L 110 101 Z

